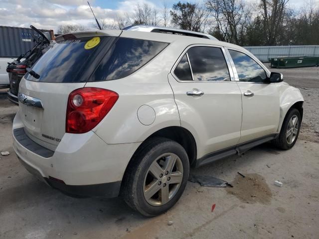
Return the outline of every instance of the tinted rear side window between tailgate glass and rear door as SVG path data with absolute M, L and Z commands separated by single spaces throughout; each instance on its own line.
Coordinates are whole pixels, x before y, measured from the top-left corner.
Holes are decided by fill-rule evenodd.
M 126 77 L 154 58 L 168 43 L 119 38 L 108 50 L 89 81 Z

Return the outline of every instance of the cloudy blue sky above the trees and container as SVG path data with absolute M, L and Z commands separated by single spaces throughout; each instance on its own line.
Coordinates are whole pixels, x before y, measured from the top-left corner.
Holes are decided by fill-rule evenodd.
M 183 0 L 181 0 L 183 2 Z M 194 0 L 189 0 L 195 2 Z M 197 2 L 203 0 L 197 0 Z M 259 0 L 246 0 L 258 2 Z M 319 0 L 313 0 L 319 6 Z M 90 0 L 97 18 L 112 22 L 114 17 L 133 12 L 144 2 L 159 9 L 165 2 L 169 7 L 178 0 Z M 290 0 L 291 8 L 304 6 L 306 1 Z M 81 24 L 94 27 L 94 18 L 86 0 L 0 0 L 0 25 L 57 30 L 58 25 Z

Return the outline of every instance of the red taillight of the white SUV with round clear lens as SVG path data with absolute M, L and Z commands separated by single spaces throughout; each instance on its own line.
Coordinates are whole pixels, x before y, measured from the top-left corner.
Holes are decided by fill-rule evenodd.
M 119 95 L 110 90 L 85 87 L 70 93 L 66 110 L 67 133 L 93 129 L 112 109 Z

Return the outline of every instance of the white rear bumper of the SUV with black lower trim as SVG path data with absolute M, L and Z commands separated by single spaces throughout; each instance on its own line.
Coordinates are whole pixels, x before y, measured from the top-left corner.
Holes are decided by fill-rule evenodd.
M 13 149 L 21 163 L 42 181 L 72 196 L 118 196 L 125 169 L 140 145 L 107 144 L 92 131 L 65 133 L 52 154 L 46 154 L 43 146 L 14 134 L 21 127 L 18 113 L 12 133 Z

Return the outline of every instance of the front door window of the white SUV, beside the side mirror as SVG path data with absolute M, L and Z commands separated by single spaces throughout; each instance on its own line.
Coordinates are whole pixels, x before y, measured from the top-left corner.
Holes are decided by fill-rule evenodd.
M 239 81 L 261 83 L 267 81 L 265 70 L 252 58 L 234 50 L 229 50 L 229 53 L 233 58 Z

